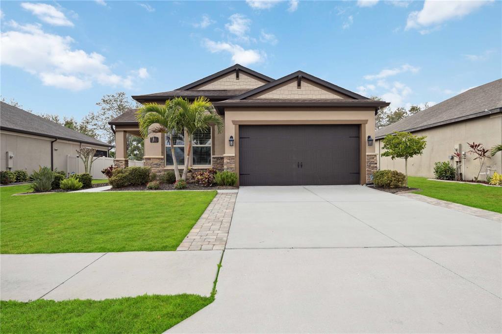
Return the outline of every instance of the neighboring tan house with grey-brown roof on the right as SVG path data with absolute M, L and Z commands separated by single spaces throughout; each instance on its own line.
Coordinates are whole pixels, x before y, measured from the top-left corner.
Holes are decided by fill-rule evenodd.
M 376 131 L 376 152 L 379 153 L 381 170 L 404 172 L 404 160 L 392 160 L 380 156 L 382 138 L 394 131 L 409 131 L 416 135 L 427 136 L 427 146 L 422 155 L 408 161 L 408 174 L 412 176 L 434 177 L 434 162 L 450 161 L 456 164 L 452 154 L 467 152 L 467 142 L 481 142 L 491 148 L 502 141 L 502 79 L 469 89 L 446 101 L 438 103 L 417 114 Z M 472 180 L 479 171 L 475 155 L 465 155 L 465 165 L 461 168 L 464 180 Z M 490 175 L 501 173 L 502 155 L 500 153 L 486 159 L 485 168 L 479 178 L 486 177 L 486 167 Z

